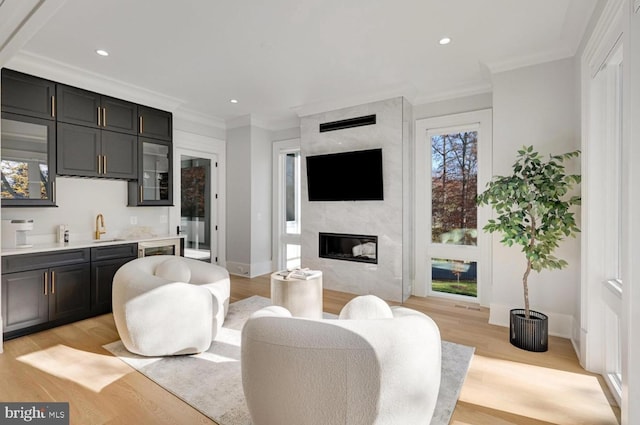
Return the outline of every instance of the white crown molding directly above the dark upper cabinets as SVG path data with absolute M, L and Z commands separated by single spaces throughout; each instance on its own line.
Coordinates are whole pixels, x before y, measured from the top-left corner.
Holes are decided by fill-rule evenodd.
M 109 93 L 113 97 L 171 112 L 184 103 L 182 99 L 154 92 L 30 52 L 21 51 L 17 53 L 11 58 L 7 66 L 17 71 L 34 74 L 63 84 L 98 93 Z

